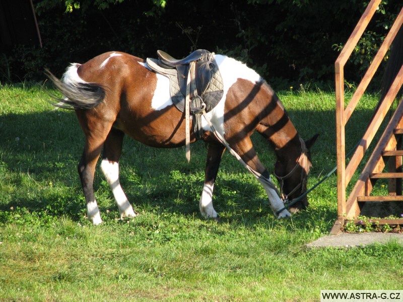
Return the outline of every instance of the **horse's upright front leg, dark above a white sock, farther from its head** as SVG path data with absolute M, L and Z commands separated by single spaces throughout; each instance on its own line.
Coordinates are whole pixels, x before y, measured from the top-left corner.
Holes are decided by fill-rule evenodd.
M 213 189 L 224 150 L 225 147 L 221 144 L 209 144 L 205 170 L 205 183 L 199 202 L 200 213 L 205 218 L 213 218 L 215 220 L 220 218 L 213 207 Z

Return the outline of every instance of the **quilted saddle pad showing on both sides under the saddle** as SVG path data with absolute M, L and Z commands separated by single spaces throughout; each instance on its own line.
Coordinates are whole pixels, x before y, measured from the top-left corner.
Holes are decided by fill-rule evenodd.
M 178 81 L 178 72 L 175 68 L 163 68 L 161 67 L 158 62 L 158 59 L 154 58 L 147 58 L 148 66 L 157 73 L 165 75 L 169 79 L 170 83 L 170 94 L 171 99 L 176 108 L 181 112 L 184 111 L 185 108 L 185 96 L 182 94 L 179 81 Z M 209 85 L 207 86 L 206 90 L 201 93 L 201 99 L 206 104 L 206 112 L 211 111 L 218 102 L 220 102 L 221 98 L 224 94 L 224 84 L 221 78 L 220 71 L 218 70 L 218 66 L 216 61 L 213 59 L 210 63 L 210 73 L 211 73 L 211 80 Z

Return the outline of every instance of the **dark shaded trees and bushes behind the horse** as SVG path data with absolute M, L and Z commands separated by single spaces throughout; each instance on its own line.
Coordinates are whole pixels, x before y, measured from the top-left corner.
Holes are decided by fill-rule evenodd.
M 0 82 L 42 82 L 70 62 L 110 50 L 181 58 L 198 48 L 240 59 L 275 89 L 333 88 L 334 61 L 369 1 L 359 0 L 34 0 L 43 47 L 0 53 Z M 401 9 L 384 0 L 347 65 L 359 81 Z

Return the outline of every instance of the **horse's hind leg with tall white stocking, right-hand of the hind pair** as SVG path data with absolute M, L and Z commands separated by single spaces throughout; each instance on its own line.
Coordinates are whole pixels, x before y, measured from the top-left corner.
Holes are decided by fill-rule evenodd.
M 127 200 L 119 181 L 119 158 L 122 153 L 124 133 L 112 128 L 105 140 L 101 162 L 101 171 L 105 175 L 106 181 L 115 197 L 119 208 L 120 218 L 135 217 L 131 204 Z

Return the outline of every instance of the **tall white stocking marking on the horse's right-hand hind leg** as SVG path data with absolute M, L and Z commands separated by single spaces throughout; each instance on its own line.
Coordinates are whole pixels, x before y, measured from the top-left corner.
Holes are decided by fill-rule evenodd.
M 126 195 L 123 192 L 119 182 L 119 164 L 116 162 L 110 162 L 108 160 L 102 160 L 101 170 L 105 175 L 106 181 L 112 190 L 115 197 L 117 207 L 119 208 L 120 218 L 123 217 L 136 217 L 137 214 L 133 211 L 131 204 L 127 200 Z

